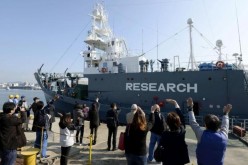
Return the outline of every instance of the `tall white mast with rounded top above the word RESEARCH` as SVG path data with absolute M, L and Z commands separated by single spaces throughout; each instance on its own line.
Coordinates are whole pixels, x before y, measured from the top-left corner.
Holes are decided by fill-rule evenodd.
M 196 70 L 196 63 L 195 63 L 195 57 L 193 55 L 193 46 L 192 46 L 192 27 L 193 27 L 193 21 L 191 18 L 187 21 L 189 25 L 189 37 L 190 37 L 190 57 L 189 57 L 189 63 L 188 63 L 188 70 Z M 189 69 L 189 65 L 191 65 L 191 69 Z M 195 67 L 195 69 L 194 69 Z

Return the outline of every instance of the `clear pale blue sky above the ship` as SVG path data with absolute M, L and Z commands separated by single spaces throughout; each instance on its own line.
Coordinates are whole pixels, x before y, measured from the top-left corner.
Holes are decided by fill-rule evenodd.
M 86 49 L 84 39 L 91 27 L 88 14 L 96 2 L 1 0 L 0 82 L 35 82 L 33 73 L 43 63 L 47 72 L 66 68 L 83 72 L 80 52 Z M 114 34 L 126 40 L 131 54 L 141 54 L 143 49 L 148 59 L 156 60 L 158 38 L 158 43 L 163 42 L 158 58 L 173 63 L 174 56 L 179 56 L 181 66 L 187 66 L 189 59 L 188 18 L 204 36 L 193 29 L 198 63 L 218 59 L 214 45 L 219 39 L 223 60 L 235 62 L 233 53 L 240 53 L 238 18 L 243 61 L 248 64 L 247 0 L 105 0 L 104 5 Z

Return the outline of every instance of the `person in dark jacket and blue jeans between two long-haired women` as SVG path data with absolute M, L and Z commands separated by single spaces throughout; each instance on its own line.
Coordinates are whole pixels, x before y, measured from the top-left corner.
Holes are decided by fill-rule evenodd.
M 149 143 L 149 153 L 147 157 L 147 162 L 150 163 L 153 160 L 153 154 L 154 154 L 154 148 L 157 143 L 159 144 L 159 141 L 161 139 L 161 135 L 164 132 L 166 128 L 166 123 L 164 120 L 164 116 L 160 113 L 160 107 L 158 104 L 154 104 L 154 113 L 150 113 L 149 115 L 149 122 L 152 121 L 153 127 L 150 130 L 151 131 L 151 137 L 150 137 L 150 143 Z

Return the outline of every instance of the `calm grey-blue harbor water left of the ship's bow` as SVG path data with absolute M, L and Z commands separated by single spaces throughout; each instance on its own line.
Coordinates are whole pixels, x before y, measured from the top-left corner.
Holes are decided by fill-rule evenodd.
M 33 98 L 38 97 L 41 101 L 44 101 L 46 104 L 46 99 L 42 90 L 21 90 L 21 89 L 1 89 L 0 90 L 0 109 L 3 108 L 3 104 L 8 101 L 9 95 L 19 95 L 19 99 L 21 96 L 26 97 L 26 101 L 28 106 L 33 103 Z

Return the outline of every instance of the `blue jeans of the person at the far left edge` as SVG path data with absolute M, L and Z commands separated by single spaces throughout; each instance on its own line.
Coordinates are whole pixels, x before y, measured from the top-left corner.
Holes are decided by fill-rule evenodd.
M 0 165 L 14 165 L 17 152 L 16 150 L 1 150 L 1 163 Z

